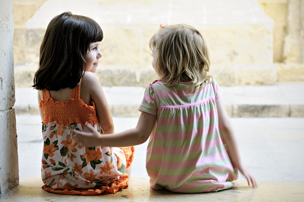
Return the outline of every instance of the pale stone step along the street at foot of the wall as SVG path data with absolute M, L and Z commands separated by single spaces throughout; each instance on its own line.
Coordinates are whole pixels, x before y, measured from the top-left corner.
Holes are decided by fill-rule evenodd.
M 103 87 L 113 117 L 138 117 L 143 87 Z M 304 117 L 304 82 L 269 86 L 222 86 L 222 100 L 230 117 Z M 39 115 L 37 91 L 16 87 L 16 114 Z

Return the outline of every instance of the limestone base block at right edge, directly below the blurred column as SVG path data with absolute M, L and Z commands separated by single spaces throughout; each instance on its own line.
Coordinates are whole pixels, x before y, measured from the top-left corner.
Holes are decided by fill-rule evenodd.
M 304 81 L 304 64 L 277 63 L 275 64 L 279 82 Z

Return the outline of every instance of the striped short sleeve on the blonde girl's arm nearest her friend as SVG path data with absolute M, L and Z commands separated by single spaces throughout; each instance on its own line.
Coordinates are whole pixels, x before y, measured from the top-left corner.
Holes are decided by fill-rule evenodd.
M 138 110 L 153 114 L 155 116 L 157 115 L 156 98 L 152 84 L 149 84 L 145 89 L 143 101 L 141 102 Z

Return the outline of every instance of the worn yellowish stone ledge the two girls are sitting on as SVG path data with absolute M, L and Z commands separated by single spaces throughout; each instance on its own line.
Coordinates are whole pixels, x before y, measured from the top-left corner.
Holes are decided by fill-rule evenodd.
M 258 188 L 249 187 L 247 181 L 234 181 L 233 188 L 209 193 L 174 193 L 168 190 L 153 190 L 149 178 L 130 178 L 126 189 L 115 194 L 102 193 L 94 196 L 61 195 L 41 189 L 40 176 L 23 178 L 16 191 L 1 201 L 301 201 L 304 194 L 302 181 L 257 181 Z M 102 197 L 102 198 L 101 198 Z

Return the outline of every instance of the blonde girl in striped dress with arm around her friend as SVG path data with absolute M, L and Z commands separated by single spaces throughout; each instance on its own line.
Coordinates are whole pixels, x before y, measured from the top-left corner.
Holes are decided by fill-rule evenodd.
M 130 146 L 149 139 L 146 168 L 153 189 L 199 193 L 228 189 L 238 170 L 256 187 L 240 159 L 219 85 L 208 71 L 202 34 L 185 24 L 160 26 L 150 39 L 159 80 L 145 90 L 136 128 L 98 136 L 75 131 L 81 145 Z M 124 141 L 121 141 L 124 139 Z

